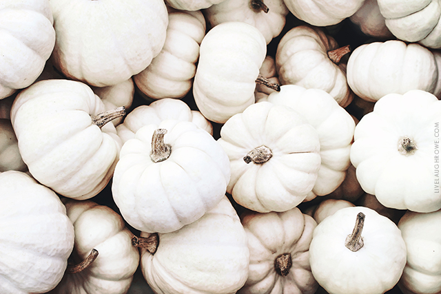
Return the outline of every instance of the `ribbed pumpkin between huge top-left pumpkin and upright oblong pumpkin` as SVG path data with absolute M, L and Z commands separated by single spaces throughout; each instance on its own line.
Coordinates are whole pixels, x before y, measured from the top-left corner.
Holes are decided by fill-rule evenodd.
M 168 18 L 161 52 L 134 76 L 136 86 L 147 98 L 183 98 L 196 74 L 199 46 L 206 30 L 203 14 L 200 10 L 171 11 Z

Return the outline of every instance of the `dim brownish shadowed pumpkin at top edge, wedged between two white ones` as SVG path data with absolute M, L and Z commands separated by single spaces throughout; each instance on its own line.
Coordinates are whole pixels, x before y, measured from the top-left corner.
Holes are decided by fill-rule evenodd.
M 385 19 L 380 13 L 377 0 L 365 0 L 357 12 L 349 17 L 349 20 L 358 25 L 360 30 L 368 36 L 377 39 L 393 39 L 393 34 L 387 28 Z

